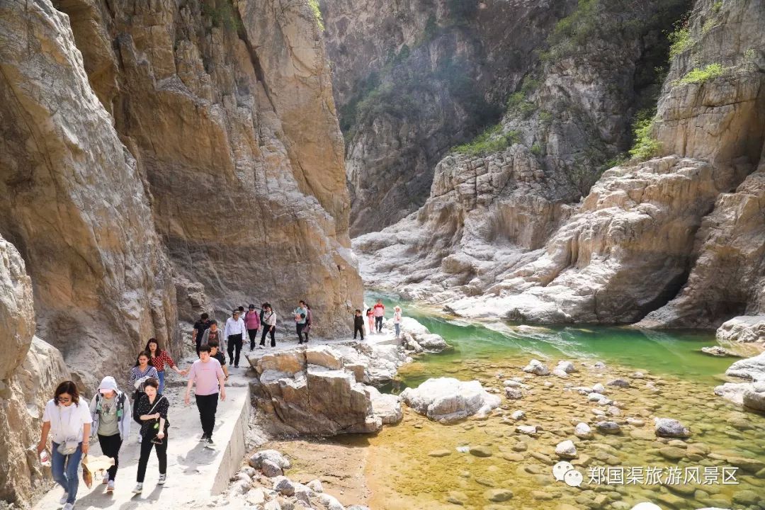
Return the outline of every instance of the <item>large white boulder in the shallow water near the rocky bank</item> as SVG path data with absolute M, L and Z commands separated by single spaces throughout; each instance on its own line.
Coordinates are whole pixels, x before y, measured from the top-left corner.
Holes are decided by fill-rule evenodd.
M 417 388 L 406 388 L 402 401 L 428 418 L 451 423 L 477 414 L 485 416 L 500 405 L 501 399 L 487 393 L 478 381 L 431 378 Z

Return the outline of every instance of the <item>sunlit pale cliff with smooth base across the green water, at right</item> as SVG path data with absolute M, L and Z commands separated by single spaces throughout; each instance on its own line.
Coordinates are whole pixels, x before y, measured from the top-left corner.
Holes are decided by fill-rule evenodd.
M 535 158 L 539 131 L 509 112 L 486 139 L 509 147 L 444 158 L 418 213 L 356 239 L 363 274 L 478 317 L 624 323 L 649 314 L 641 325 L 717 326 L 761 313 L 763 15 L 762 2 L 694 5 L 636 143 L 649 150 L 607 171 L 580 203 L 568 203 L 567 190 L 588 174 Z M 594 98 L 607 83 L 569 68 L 568 87 L 543 99 L 561 83 L 560 65 L 530 96 L 542 108 L 564 90 Z M 594 124 L 619 132 L 622 121 L 611 121 Z M 651 154 L 666 157 L 640 162 Z M 413 265 L 418 258 L 425 264 Z

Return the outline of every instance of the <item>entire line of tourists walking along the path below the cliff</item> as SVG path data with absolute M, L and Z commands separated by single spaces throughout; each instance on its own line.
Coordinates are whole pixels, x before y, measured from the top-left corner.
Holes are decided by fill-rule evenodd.
M 292 312 L 298 343 L 308 343 L 313 317 L 311 306 L 304 300 Z M 369 332 L 374 329 L 382 332 L 382 320 L 385 317 L 385 305 L 377 300 L 373 308 L 366 313 L 369 318 Z M 393 323 L 396 336 L 400 335 L 402 320 L 401 308 L 395 307 Z M 194 323 L 192 338 L 199 359 L 189 369 L 179 369 L 170 354 L 161 349 L 158 339 L 148 339 L 145 349 L 138 353 L 135 365 L 130 369 L 130 393 L 120 391 L 114 377 L 106 376 L 99 384 L 98 391 L 90 405 L 80 401 L 80 392 L 72 381 L 64 381 L 57 386 L 54 397 L 47 402 L 43 414 L 43 427 L 37 453 L 47 450 L 47 440 L 51 440 L 51 470 L 54 480 L 63 487 L 60 500 L 64 510 L 71 510 L 77 498 L 79 481 L 77 471 L 84 455 L 89 451 L 90 440 L 98 438 L 103 455 L 114 460 L 108 469 L 103 483 L 107 492 L 113 492 L 115 478 L 119 468 L 119 450 L 130 434 L 131 421 L 140 425 L 138 440 L 141 453 L 138 459 L 138 473 L 133 492 L 143 491 L 146 466 L 151 450 L 155 450 L 159 461 L 158 484 L 167 479 L 168 467 L 168 411 L 170 401 L 164 395 L 165 367 L 187 376 L 184 397 L 190 404 L 190 392 L 194 388 L 197 410 L 202 425 L 200 441 L 207 447 L 213 447 L 213 428 L 218 400 L 226 400 L 225 382 L 229 378 L 223 344 L 227 346 L 229 365 L 239 368 L 239 354 L 245 335 L 249 337 L 250 351 L 256 349 L 256 339 L 261 333 L 259 349 L 264 348 L 266 336 L 271 336 L 271 346 L 275 347 L 275 327 L 277 316 L 269 303 L 249 305 L 232 310 L 231 317 L 220 330 L 216 320 L 210 320 L 207 313 L 202 313 L 200 320 Z M 353 339 L 360 333 L 364 339 L 364 321 L 360 309 L 356 309 L 353 321 Z

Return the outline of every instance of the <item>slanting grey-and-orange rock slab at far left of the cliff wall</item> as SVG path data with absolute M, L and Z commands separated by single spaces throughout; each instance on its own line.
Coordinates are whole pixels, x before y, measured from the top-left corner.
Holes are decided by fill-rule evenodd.
M 150 336 L 177 347 L 168 258 L 135 158 L 83 70 L 67 15 L 0 5 L 0 232 L 34 287 L 37 334 L 86 384 Z

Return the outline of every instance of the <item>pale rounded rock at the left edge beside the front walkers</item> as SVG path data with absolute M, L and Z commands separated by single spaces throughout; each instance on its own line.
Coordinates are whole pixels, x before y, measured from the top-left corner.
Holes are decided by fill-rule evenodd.
M 68 370 L 57 349 L 34 335 L 34 302 L 24 260 L 0 238 L 0 500 L 23 508 L 44 490 L 37 450 L 42 409 Z

